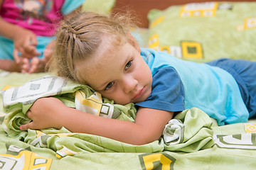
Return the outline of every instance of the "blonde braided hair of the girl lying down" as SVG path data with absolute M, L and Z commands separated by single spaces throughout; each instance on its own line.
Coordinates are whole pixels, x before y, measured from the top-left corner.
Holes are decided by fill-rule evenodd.
M 63 21 L 58 28 L 50 71 L 55 70 L 60 77 L 66 77 L 86 84 L 79 76 L 75 63 L 91 57 L 100 46 L 104 35 L 111 35 L 112 43 L 121 43 L 134 24 L 130 16 L 115 14 L 104 16 L 98 13 L 78 13 Z

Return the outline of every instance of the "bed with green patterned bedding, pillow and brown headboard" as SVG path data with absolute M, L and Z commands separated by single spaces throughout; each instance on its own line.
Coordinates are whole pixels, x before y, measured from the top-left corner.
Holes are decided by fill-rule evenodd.
M 103 2 L 108 8 L 100 11 L 110 12 L 112 7 L 112 12 L 122 12 L 125 8 L 137 11 L 142 25 L 131 33 L 142 47 L 194 62 L 208 62 L 219 57 L 256 60 L 255 1 L 193 1 L 197 4 L 166 0 L 97 1 Z M 98 6 L 93 1 L 87 3 L 91 4 L 86 4 L 84 10 L 95 10 Z M 71 133 L 65 128 L 21 132 L 18 126 L 29 121 L 23 113 L 41 95 L 56 96 L 66 105 L 75 107 L 75 99 L 80 98 L 81 91 L 86 97 L 80 100 L 97 94 L 87 86 L 63 81 L 50 73 L 20 74 L 1 70 L 0 79 L 0 169 L 256 167 L 255 119 L 218 126 L 206 113 L 191 108 L 176 115 L 161 139 L 141 146 Z M 58 91 L 48 94 L 50 88 Z M 9 103 L 4 103 L 2 97 L 5 101 L 9 98 Z M 95 98 L 90 101 L 99 103 Z M 117 106 L 106 98 L 100 101 L 99 109 L 102 116 L 127 121 L 133 121 L 136 115 L 132 104 Z M 110 110 L 115 114 L 110 115 Z

